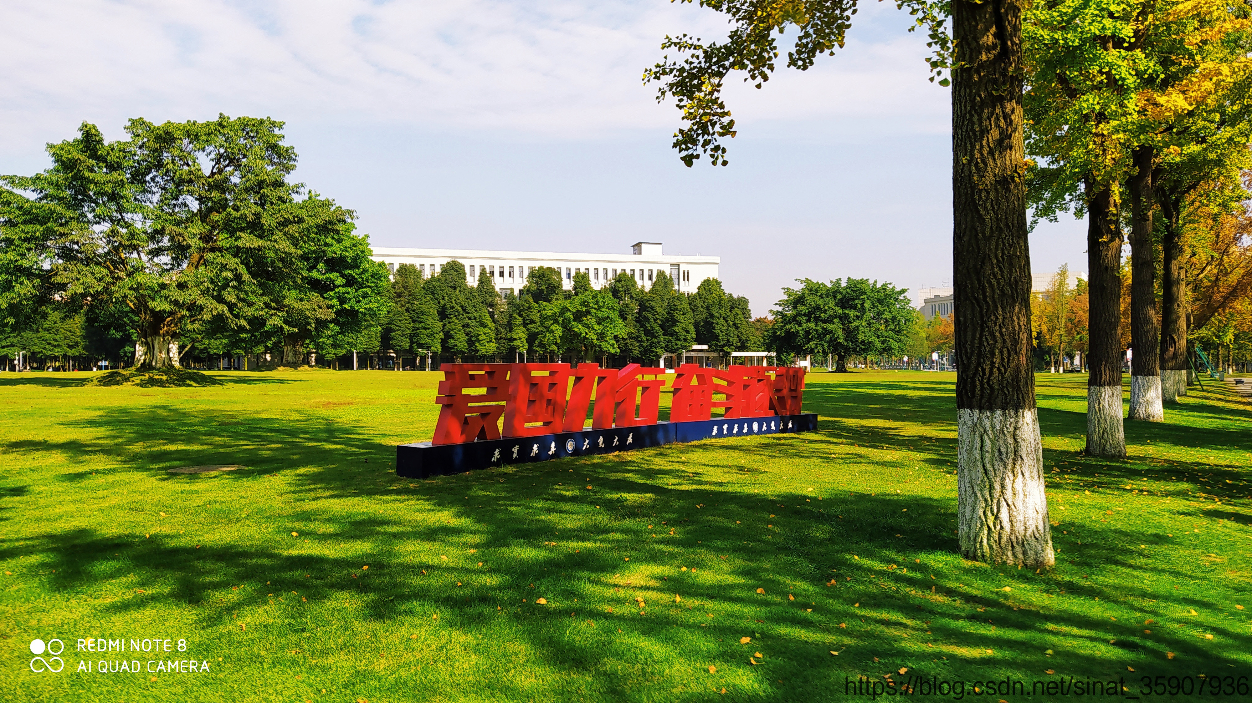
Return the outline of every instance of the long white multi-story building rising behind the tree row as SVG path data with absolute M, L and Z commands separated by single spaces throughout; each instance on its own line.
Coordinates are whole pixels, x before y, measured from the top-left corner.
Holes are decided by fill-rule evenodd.
M 660 241 L 637 241 L 630 254 L 562 254 L 553 251 L 482 251 L 473 249 L 407 249 L 374 246 L 373 260 L 387 264 L 394 273 L 401 264 L 413 264 L 423 276 L 439 273 L 448 261 L 461 261 L 466 283 L 476 285 L 486 270 L 501 293 L 517 293 L 526 285 L 526 275 L 537 266 L 551 266 L 561 273 L 565 288 L 573 286 L 573 274 L 586 271 L 593 288 L 626 273 L 641 286 L 650 288 L 657 273 L 665 271 L 682 293 L 695 293 L 706 278 L 717 278 L 721 256 L 674 256 L 661 253 Z

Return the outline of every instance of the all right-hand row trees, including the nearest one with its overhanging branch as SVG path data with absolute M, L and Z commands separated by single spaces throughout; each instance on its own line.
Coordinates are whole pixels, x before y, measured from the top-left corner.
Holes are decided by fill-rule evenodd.
M 681 111 L 685 124 L 674 138 L 681 159 L 689 166 L 701 156 L 726 165 L 722 140 L 736 134 L 722 96 L 726 78 L 742 71 L 761 88 L 776 70 L 779 36 L 789 28 L 795 39 L 786 65 L 809 69 L 844 45 L 856 4 L 701 3 L 729 18 L 727 36 L 711 43 L 667 36 L 662 49 L 675 58 L 666 55 L 644 74 L 660 84 L 657 100 L 672 96 Z M 1087 449 L 1124 457 L 1122 203 L 1129 201 L 1132 344 L 1159 349 L 1134 355 L 1132 417 L 1159 419 L 1162 387 L 1176 394 L 1186 368 L 1188 204 L 1231 211 L 1246 198 L 1236 184 L 1252 125 L 1246 114 L 1252 13 L 1243 0 L 899 0 L 898 6 L 929 35 L 931 80 L 952 85 L 960 550 L 975 560 L 1049 567 L 1055 555 L 1030 353 L 1028 209 L 1044 216 L 1078 209 L 1088 216 Z M 1154 239 L 1163 259 L 1159 315 L 1148 244 Z

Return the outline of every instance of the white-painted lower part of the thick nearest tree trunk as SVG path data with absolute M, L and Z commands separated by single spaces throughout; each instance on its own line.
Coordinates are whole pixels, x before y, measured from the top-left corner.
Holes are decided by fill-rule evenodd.
M 989 564 L 1054 564 L 1035 410 L 957 410 L 957 453 L 962 554 Z

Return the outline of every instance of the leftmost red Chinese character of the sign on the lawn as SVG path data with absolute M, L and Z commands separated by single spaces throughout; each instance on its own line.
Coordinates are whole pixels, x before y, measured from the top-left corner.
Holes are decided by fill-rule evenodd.
M 508 364 L 443 364 L 443 380 L 434 402 L 439 419 L 431 444 L 463 444 L 476 439 L 500 439 L 497 422 L 505 412 L 503 388 Z M 482 388 L 482 394 L 466 389 Z

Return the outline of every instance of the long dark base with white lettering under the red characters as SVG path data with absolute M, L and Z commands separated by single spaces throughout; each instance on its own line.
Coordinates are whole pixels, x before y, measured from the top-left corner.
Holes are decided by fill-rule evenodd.
M 538 437 L 506 437 L 467 444 L 431 444 L 418 442 L 396 448 L 396 474 L 404 478 L 427 478 L 457 474 L 473 469 L 547 462 L 588 454 L 612 454 L 629 449 L 660 447 L 675 442 L 722 439 L 810 432 L 818 429 L 816 413 L 799 415 L 767 415 L 764 418 L 695 420 L 690 423 L 657 423 L 655 425 L 612 429 L 585 429 Z

